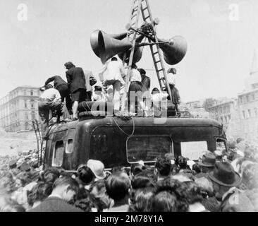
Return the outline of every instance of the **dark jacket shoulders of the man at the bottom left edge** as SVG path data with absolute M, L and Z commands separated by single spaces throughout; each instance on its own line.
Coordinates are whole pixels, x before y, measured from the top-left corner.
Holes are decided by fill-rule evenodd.
M 72 206 L 58 197 L 49 197 L 45 201 L 28 210 L 28 212 L 83 212 L 79 208 Z

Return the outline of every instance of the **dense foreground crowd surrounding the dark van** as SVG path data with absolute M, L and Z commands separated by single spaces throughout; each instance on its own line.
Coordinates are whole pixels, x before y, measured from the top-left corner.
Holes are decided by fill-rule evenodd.
M 154 165 L 111 171 L 88 160 L 73 173 L 40 169 L 35 151 L 1 157 L 0 211 L 258 211 L 257 146 L 238 140 L 228 147 L 207 150 L 198 161 L 166 153 Z

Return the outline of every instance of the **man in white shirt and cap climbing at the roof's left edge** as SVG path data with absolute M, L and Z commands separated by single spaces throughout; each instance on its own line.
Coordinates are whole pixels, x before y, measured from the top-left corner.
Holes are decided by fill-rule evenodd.
M 43 140 L 47 139 L 47 133 L 49 131 L 49 110 L 62 112 L 64 119 L 69 117 L 66 105 L 61 102 L 59 90 L 53 88 L 51 84 L 46 86 L 46 90 L 39 97 L 39 117 L 42 124 Z

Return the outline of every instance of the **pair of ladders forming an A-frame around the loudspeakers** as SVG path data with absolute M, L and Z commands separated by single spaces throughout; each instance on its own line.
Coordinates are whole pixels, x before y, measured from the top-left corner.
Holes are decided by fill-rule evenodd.
M 137 28 L 138 21 L 139 21 L 139 14 L 142 13 L 142 19 L 143 21 L 147 23 L 152 23 L 152 13 L 149 8 L 149 2 L 148 0 L 133 0 L 133 5 L 130 11 L 130 26 L 132 28 Z M 156 25 L 154 25 L 154 31 L 156 30 Z M 129 38 L 133 36 L 133 47 L 130 52 L 130 60 L 128 64 L 128 74 L 130 75 L 131 66 L 133 63 L 133 54 L 135 51 L 135 37 L 137 32 L 134 30 L 133 34 L 129 35 Z M 158 38 L 156 37 L 156 32 L 154 33 L 155 42 L 159 42 Z M 152 40 L 148 37 L 149 42 L 152 42 Z M 171 95 L 171 89 L 168 84 L 168 78 L 166 76 L 166 70 L 164 66 L 164 60 L 161 55 L 161 49 L 159 47 L 159 44 L 154 44 L 149 46 L 152 52 L 152 59 L 155 66 L 156 76 L 158 77 L 159 86 L 162 91 L 167 91 L 169 97 L 172 100 Z M 130 79 L 129 76 L 127 76 L 128 81 Z

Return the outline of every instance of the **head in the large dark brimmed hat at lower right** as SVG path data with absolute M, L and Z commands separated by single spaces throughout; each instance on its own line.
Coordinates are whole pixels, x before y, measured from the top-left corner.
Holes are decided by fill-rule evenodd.
M 232 187 L 240 185 L 240 175 L 235 172 L 229 162 L 216 162 L 213 172 L 209 172 L 214 191 L 218 198 L 222 198 Z

